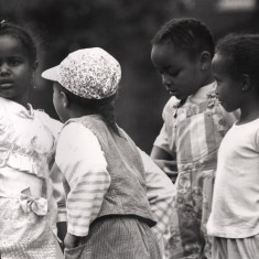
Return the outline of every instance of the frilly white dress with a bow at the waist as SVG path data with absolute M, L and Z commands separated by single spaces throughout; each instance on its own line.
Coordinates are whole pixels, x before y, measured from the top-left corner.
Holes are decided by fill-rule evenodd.
M 62 123 L 0 98 L 0 258 L 62 258 L 50 163 Z

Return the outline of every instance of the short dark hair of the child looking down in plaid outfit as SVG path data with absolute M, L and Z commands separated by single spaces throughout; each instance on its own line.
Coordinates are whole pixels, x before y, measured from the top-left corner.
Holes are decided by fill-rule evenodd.
M 151 43 L 153 45 L 173 43 L 176 48 L 185 51 L 191 58 L 197 57 L 203 51 L 214 56 L 214 37 L 208 28 L 196 19 L 170 20 L 157 32 Z

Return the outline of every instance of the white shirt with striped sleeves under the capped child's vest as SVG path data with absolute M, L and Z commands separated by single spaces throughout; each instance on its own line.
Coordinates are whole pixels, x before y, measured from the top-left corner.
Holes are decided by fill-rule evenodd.
M 169 226 L 175 187 L 153 161 L 139 151 L 145 170 L 147 195 L 158 220 L 153 230 L 161 238 Z M 79 123 L 67 125 L 57 143 L 56 164 L 71 187 L 66 197 L 67 231 L 87 236 L 110 186 L 107 162 L 95 134 Z

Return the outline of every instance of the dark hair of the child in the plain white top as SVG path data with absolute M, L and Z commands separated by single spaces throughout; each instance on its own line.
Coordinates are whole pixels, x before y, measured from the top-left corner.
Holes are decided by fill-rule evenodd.
M 218 41 L 216 53 L 224 56 L 233 78 L 248 74 L 259 83 L 259 34 L 228 34 Z

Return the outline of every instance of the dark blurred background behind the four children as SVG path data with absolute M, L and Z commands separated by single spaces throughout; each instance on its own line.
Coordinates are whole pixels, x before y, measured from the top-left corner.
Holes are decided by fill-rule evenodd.
M 148 153 L 170 98 L 150 61 L 150 41 L 164 22 L 181 17 L 203 20 L 216 41 L 229 32 L 259 32 L 258 0 L 0 0 L 0 18 L 26 25 L 39 41 L 34 108 L 57 118 L 42 71 L 72 51 L 102 47 L 122 66 L 117 121 Z

